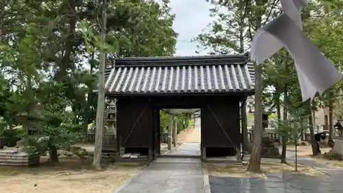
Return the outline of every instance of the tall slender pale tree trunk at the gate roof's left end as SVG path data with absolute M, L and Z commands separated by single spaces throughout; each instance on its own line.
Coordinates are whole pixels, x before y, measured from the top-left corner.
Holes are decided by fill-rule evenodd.
M 104 111 L 105 111 L 105 66 L 106 66 L 106 9 L 107 1 L 102 2 L 102 32 L 100 34 L 100 64 L 99 64 L 99 84 L 97 96 L 97 118 L 95 130 L 95 148 L 93 166 L 96 170 L 101 170 L 100 161 L 102 159 L 102 138 L 104 133 Z

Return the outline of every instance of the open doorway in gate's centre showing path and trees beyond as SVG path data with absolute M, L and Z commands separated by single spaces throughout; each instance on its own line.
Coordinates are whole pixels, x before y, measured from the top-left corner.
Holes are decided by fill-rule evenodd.
M 159 157 L 201 157 L 201 109 L 159 109 Z

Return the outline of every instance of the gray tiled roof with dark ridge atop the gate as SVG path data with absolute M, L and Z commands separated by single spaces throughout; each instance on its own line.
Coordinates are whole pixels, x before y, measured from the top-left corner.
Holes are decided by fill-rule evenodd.
M 107 93 L 254 92 L 255 73 L 248 56 L 117 58 L 106 69 Z

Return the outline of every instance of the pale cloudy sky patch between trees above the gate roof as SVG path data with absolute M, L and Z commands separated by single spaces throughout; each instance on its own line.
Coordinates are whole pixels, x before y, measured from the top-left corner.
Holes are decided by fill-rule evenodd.
M 200 50 L 200 54 L 196 54 L 197 43 L 191 43 L 191 39 L 200 34 L 211 22 L 211 3 L 205 0 L 171 0 L 170 5 L 171 13 L 176 15 L 173 27 L 179 34 L 175 55 L 206 55 L 205 50 Z

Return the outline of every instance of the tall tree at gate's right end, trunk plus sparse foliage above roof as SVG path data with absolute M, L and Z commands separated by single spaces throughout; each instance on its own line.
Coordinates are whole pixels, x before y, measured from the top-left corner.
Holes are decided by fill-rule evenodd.
M 209 32 L 200 34 L 195 41 L 200 47 L 210 49 L 209 54 L 233 54 L 250 47 L 255 32 L 279 14 L 278 1 L 222 0 L 211 9 L 216 18 L 209 25 Z M 252 145 L 248 170 L 261 172 L 261 129 L 262 129 L 262 66 L 255 67 L 255 137 Z

